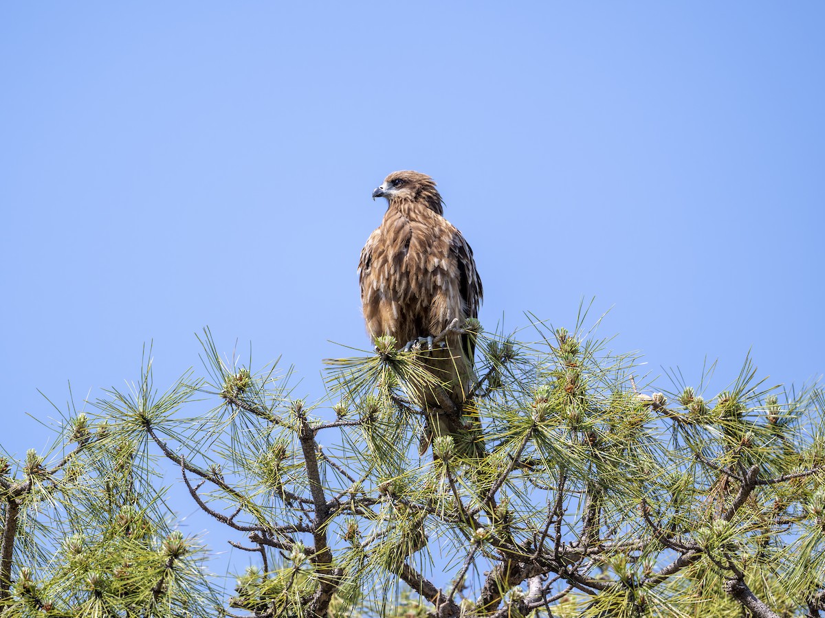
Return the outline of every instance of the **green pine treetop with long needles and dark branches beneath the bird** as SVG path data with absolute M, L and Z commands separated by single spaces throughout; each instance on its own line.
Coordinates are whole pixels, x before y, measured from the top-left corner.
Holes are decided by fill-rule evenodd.
M 530 343 L 463 325 L 467 431 L 423 455 L 426 350 L 328 360 L 315 402 L 208 330 L 205 377 L 159 393 L 144 359 L 52 452 L 0 460 L 0 615 L 818 616 L 823 391 L 749 358 L 719 393 L 654 386 L 583 319 Z M 168 466 L 255 556 L 228 602 L 175 529 Z

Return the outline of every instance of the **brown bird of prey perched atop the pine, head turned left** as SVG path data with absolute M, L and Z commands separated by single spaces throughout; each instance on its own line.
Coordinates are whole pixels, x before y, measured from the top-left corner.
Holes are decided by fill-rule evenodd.
M 444 347 L 431 349 L 433 338 L 450 325 L 460 330 L 468 318 L 479 316 L 483 288 L 473 250 L 442 216 L 444 203 L 430 176 L 394 171 L 372 197 L 386 198 L 388 207 L 358 265 L 366 330 L 373 339 L 392 335 L 398 349 L 427 350 L 422 362 L 443 388 L 419 392 L 429 419 L 422 451 L 434 433 L 452 435 L 460 451 L 477 453 L 478 445 L 468 438 L 474 432 L 461 419 L 475 415 L 468 400 L 475 382 L 474 337 L 450 330 Z M 478 428 L 477 416 L 470 424 Z

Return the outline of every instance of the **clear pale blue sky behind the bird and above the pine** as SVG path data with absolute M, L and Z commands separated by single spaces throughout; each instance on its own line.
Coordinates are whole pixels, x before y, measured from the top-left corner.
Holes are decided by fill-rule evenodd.
M 2 447 L 44 446 L 38 389 L 137 379 L 144 342 L 165 387 L 206 325 L 321 396 L 329 340 L 369 346 L 356 265 L 398 169 L 438 182 L 488 328 L 595 296 L 653 375 L 719 358 L 720 389 L 752 349 L 810 382 L 823 26 L 819 2 L 3 3 Z

